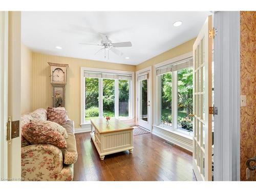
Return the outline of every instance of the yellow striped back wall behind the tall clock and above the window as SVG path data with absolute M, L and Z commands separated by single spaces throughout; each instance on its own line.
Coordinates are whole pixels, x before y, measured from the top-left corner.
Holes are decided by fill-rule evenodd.
M 68 64 L 66 84 L 66 110 L 75 128 L 80 127 L 80 68 L 100 68 L 120 71 L 135 71 L 136 67 L 95 60 L 62 57 L 33 53 L 32 66 L 32 110 L 52 106 L 50 66 L 48 62 Z

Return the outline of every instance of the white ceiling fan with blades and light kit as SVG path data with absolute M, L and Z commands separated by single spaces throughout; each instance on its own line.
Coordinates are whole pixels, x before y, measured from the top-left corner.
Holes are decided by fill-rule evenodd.
M 87 44 L 87 43 L 79 43 L 79 45 L 93 45 L 93 46 L 101 46 L 103 48 L 101 48 L 100 50 L 98 50 L 95 55 L 97 53 L 99 53 L 101 50 L 104 49 L 105 54 L 104 57 L 106 58 L 106 52 L 108 54 L 108 59 L 109 59 L 109 52 L 112 51 L 113 53 L 115 53 L 118 56 L 122 56 L 123 53 L 121 51 L 119 51 L 118 49 L 116 49 L 117 47 L 132 47 L 132 43 L 130 41 L 126 41 L 126 42 L 112 42 L 106 35 L 99 33 L 100 37 L 101 37 L 101 42 L 100 44 Z

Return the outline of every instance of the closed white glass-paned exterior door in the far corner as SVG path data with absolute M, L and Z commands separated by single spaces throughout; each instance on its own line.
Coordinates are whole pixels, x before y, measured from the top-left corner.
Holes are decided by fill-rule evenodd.
M 151 130 L 151 80 L 150 71 L 137 77 L 138 125 Z

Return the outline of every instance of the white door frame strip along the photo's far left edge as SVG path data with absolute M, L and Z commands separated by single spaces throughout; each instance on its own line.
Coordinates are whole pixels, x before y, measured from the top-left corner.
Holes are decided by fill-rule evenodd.
M 0 178 L 8 178 L 8 11 L 0 12 Z

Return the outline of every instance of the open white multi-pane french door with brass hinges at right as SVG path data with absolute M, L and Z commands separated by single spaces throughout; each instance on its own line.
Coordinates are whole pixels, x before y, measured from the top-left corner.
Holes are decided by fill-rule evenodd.
M 208 16 L 193 45 L 193 169 L 197 180 L 212 179 L 212 18 Z

